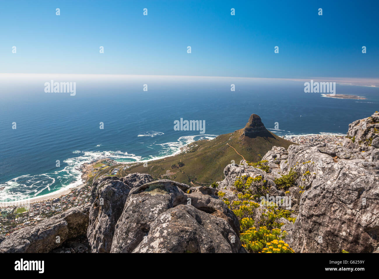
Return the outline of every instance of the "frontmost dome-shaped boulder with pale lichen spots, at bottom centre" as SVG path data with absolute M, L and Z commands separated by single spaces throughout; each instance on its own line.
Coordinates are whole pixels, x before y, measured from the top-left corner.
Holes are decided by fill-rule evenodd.
M 133 252 L 238 253 L 244 249 L 227 221 L 192 205 L 178 205 L 158 215 Z

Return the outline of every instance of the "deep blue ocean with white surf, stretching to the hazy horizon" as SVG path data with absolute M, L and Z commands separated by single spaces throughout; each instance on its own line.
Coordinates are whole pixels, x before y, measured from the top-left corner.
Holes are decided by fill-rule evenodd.
M 76 82 L 76 95 L 45 93 L 51 79 Z M 174 154 L 193 140 L 243 128 L 252 113 L 279 136 L 346 134 L 349 123 L 370 116 L 379 104 L 378 88 L 337 84 L 337 94 L 367 99 L 334 99 L 304 93 L 304 82 L 287 80 L 56 75 L 1 82 L 0 201 L 78 185 L 80 165 L 95 159 Z M 180 118 L 205 120 L 205 134 L 174 131 Z

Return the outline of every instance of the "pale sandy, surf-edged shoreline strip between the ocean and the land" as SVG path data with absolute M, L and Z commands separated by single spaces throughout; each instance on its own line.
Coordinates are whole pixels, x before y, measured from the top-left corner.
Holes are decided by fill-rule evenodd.
M 313 137 L 313 136 L 337 136 L 337 137 L 342 137 L 342 136 L 346 136 L 346 134 L 324 133 L 324 132 L 322 132 L 322 133 L 319 133 L 319 134 L 286 135 L 286 136 L 284 136 L 284 138 L 291 141 L 291 139 L 294 139 L 294 138 Z M 187 145 L 189 145 L 189 144 L 191 144 L 191 143 L 188 143 Z M 183 150 L 185 150 L 185 147 L 187 145 L 185 145 L 184 147 L 179 148 L 178 151 L 174 152 L 171 155 L 162 156 L 160 158 L 150 158 L 150 159 L 143 160 L 143 161 L 133 161 L 133 162 L 119 162 L 119 161 L 116 161 L 116 160 L 113 160 L 113 159 L 111 159 L 111 160 L 117 162 L 118 164 L 124 164 L 124 165 L 139 164 L 141 162 L 154 161 L 154 160 L 159 160 L 159 159 L 175 156 L 178 153 L 180 153 Z M 14 205 L 17 205 L 17 204 L 22 205 L 22 204 L 29 204 L 29 203 L 38 203 L 38 202 L 49 201 L 49 200 L 53 200 L 53 199 L 59 198 L 59 197 L 61 197 L 63 195 L 69 194 L 72 191 L 72 189 L 80 189 L 83 186 L 86 186 L 86 184 L 87 184 L 86 182 L 83 182 L 83 181 L 86 181 L 88 168 L 91 167 L 93 164 L 96 164 L 97 162 L 103 161 L 103 160 L 106 160 L 106 159 L 110 159 L 110 158 L 98 159 L 98 160 L 94 160 L 92 162 L 88 162 L 88 163 L 82 164 L 80 166 L 80 170 L 82 172 L 81 179 L 80 179 L 81 183 L 78 184 L 77 186 L 70 187 L 70 188 L 62 188 L 62 189 L 59 189 L 57 191 L 51 192 L 49 194 L 44 194 L 44 195 L 33 197 L 33 198 L 27 198 L 27 199 L 23 199 L 23 200 L 15 200 L 15 201 L 11 201 L 11 202 L 0 202 L 0 208 L 7 207 L 7 206 L 9 207 L 12 204 L 14 204 Z

